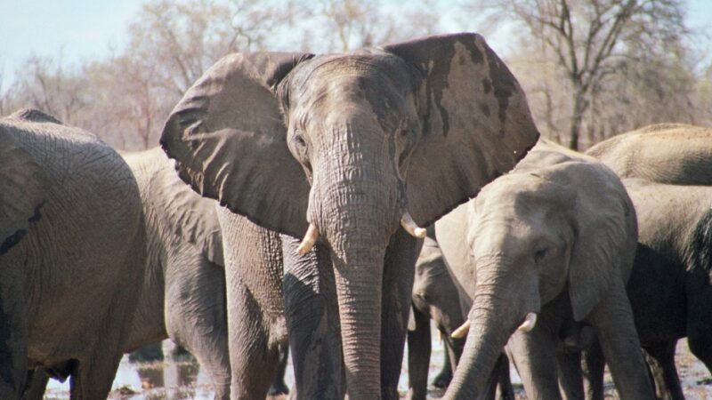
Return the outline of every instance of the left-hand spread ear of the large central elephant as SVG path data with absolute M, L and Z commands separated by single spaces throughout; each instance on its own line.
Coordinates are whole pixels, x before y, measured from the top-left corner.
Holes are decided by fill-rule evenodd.
M 311 57 L 279 52 L 224 57 L 185 93 L 161 135 L 181 179 L 198 193 L 292 236 L 306 231 L 310 187 L 287 148 L 273 89 Z

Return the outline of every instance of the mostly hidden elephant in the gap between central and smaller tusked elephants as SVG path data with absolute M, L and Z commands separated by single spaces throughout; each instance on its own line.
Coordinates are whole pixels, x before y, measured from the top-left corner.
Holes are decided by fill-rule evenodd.
M 445 351 L 449 354 L 450 371 L 455 371 L 465 346 L 465 339 L 450 337 L 465 323 L 465 313 L 460 307 L 460 294 L 445 266 L 440 247 L 430 237 L 425 237 L 416 262 L 412 311 L 408 331 L 409 398 L 425 399 L 432 343 L 430 320 L 435 321 L 441 332 Z

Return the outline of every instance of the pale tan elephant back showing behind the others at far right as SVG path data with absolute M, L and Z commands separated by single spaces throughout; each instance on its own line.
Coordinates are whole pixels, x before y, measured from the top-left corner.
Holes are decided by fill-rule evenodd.
M 712 184 L 712 128 L 652 124 L 588 148 L 620 178 L 673 185 Z

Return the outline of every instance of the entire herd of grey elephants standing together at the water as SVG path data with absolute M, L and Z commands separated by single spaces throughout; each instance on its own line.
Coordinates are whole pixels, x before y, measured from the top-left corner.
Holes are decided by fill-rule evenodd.
M 0 119 L 0 398 L 109 395 L 172 338 L 215 398 L 682 399 L 712 368 L 712 129 L 587 154 L 540 139 L 476 34 L 341 54 L 235 53 L 117 153 L 34 109 Z M 421 228 L 427 227 L 427 228 Z M 419 256 L 419 257 L 418 257 Z M 643 348 L 644 351 L 641 351 Z

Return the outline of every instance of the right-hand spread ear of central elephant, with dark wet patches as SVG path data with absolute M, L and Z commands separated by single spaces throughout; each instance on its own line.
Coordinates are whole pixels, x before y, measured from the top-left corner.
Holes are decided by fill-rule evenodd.
M 476 196 L 538 140 L 522 88 L 484 39 L 463 33 L 384 46 L 422 71 L 423 138 L 413 150 L 409 211 L 420 226 Z

